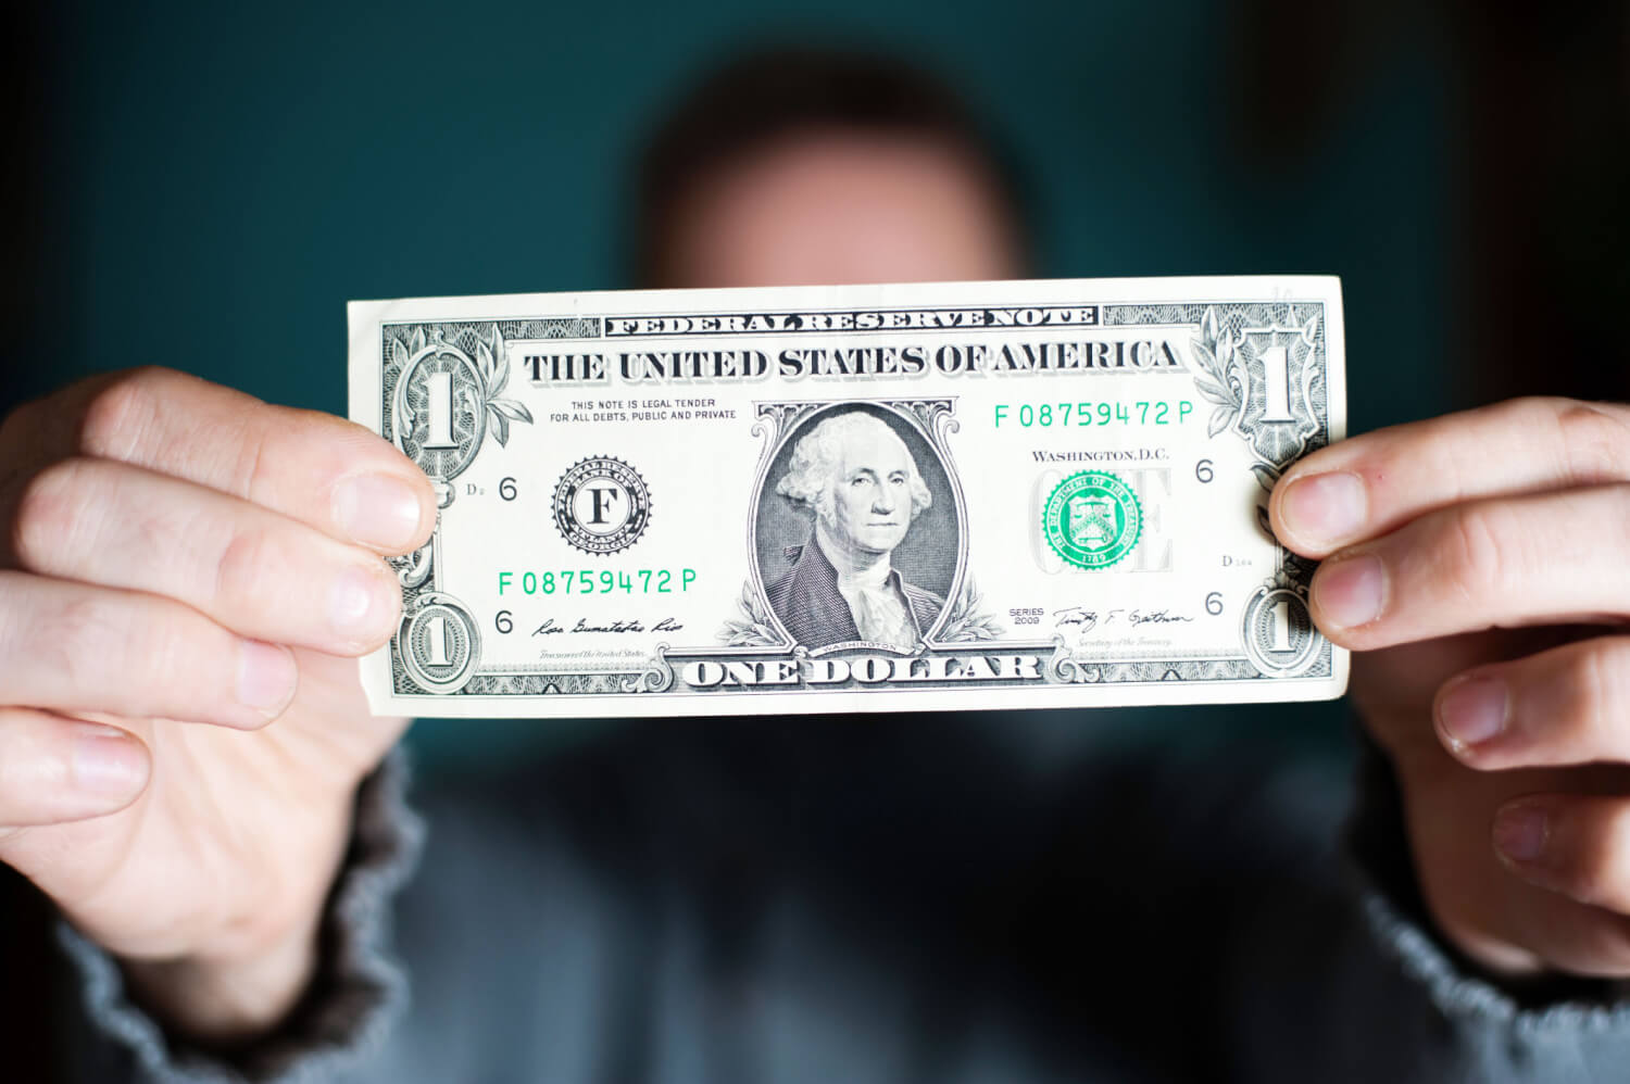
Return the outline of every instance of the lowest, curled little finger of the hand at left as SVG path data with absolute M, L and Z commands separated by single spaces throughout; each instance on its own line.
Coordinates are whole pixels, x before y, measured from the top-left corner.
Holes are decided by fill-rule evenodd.
M 0 709 L 0 836 L 116 813 L 150 771 L 147 747 L 117 727 Z

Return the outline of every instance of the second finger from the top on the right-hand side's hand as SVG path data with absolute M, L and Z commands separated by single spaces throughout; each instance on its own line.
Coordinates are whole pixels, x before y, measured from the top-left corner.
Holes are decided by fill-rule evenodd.
M 1630 484 L 1478 500 L 1431 512 L 1328 557 L 1314 621 L 1371 650 L 1456 632 L 1630 613 Z

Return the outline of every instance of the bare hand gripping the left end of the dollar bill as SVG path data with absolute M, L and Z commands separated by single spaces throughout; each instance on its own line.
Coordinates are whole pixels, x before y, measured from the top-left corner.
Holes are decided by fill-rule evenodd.
M 0 861 L 174 1024 L 251 1033 L 305 986 L 406 725 L 354 662 L 399 618 L 380 554 L 434 522 L 373 434 L 176 372 L 0 425 Z

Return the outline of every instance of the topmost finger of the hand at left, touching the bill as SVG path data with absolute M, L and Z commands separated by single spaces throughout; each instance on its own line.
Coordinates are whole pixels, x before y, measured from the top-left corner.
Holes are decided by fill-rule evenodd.
M 73 455 L 119 460 L 253 500 L 380 553 L 408 553 L 435 525 L 435 494 L 424 473 L 362 425 L 269 406 L 173 370 L 139 368 L 73 385 L 18 411 L 7 425 L 8 445 L 34 448 L 36 469 Z M 0 492 L 0 505 L 5 499 Z

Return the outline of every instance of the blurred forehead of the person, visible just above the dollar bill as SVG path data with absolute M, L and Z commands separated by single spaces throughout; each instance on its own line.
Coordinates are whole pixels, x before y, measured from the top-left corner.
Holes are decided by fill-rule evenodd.
M 1012 279 L 1014 223 L 983 170 L 936 140 L 812 130 L 685 196 L 665 287 Z

